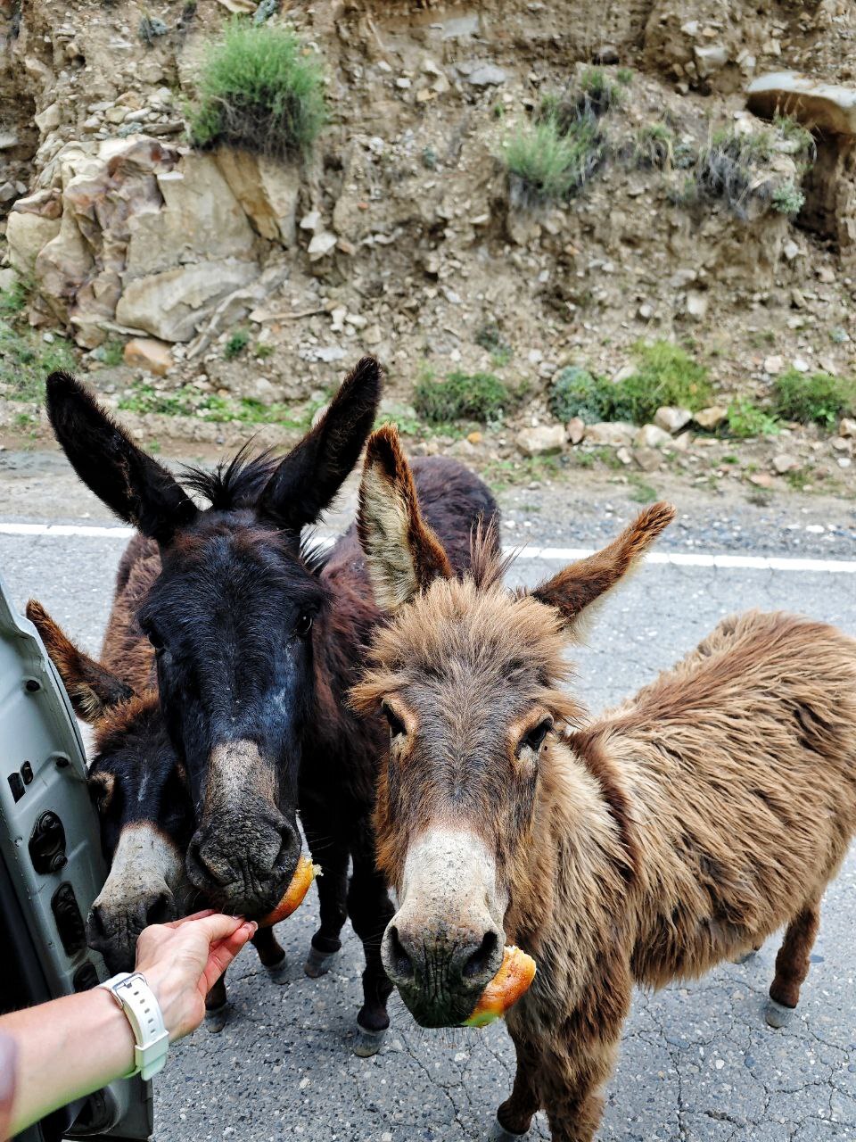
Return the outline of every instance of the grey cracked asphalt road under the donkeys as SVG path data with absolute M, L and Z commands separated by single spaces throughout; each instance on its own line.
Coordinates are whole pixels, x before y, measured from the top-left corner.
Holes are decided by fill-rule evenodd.
M 56 515 L 67 514 L 58 501 Z M 19 603 L 38 596 L 97 650 L 122 545 L 115 538 L 0 534 L 0 572 Z M 818 548 L 816 554 L 831 553 Z M 528 560 L 512 576 L 534 582 L 556 566 Z M 648 565 L 600 611 L 589 646 L 576 656 L 579 689 L 592 708 L 609 705 L 695 645 L 721 616 L 751 606 L 803 611 L 856 635 L 856 576 Z M 374 1059 L 356 1059 L 349 1044 L 360 944 L 347 930 L 334 971 L 309 980 L 301 965 L 314 923 L 312 894 L 280 925 L 288 967 L 276 980 L 251 949 L 242 954 L 229 972 L 227 1018 L 176 1047 L 156 1080 L 156 1137 L 484 1137 L 511 1083 L 512 1051 L 502 1024 L 423 1031 L 394 999 L 383 1049 Z M 762 1018 L 775 940 L 744 965 L 725 964 L 701 982 L 637 995 L 599 1137 L 856 1140 L 855 933 L 851 851 L 826 894 L 792 1028 L 774 1031 Z M 549 1136 L 540 1118 L 532 1134 Z

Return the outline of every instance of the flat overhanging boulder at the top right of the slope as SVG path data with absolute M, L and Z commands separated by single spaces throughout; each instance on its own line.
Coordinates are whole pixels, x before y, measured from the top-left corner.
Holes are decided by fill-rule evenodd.
M 764 119 L 790 115 L 825 135 L 856 136 L 856 88 L 823 83 L 800 72 L 759 75 L 746 88 L 746 105 Z

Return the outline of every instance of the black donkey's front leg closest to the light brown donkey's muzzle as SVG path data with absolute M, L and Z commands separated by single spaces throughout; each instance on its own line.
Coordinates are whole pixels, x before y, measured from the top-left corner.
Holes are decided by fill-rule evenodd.
M 363 846 L 352 851 L 354 875 L 348 887 L 348 915 L 354 931 L 363 941 L 363 1006 L 357 1014 L 357 1040 L 354 1054 L 368 1057 L 380 1051 L 387 1028 L 387 999 L 393 990 L 380 958 L 380 941 L 395 908 L 386 880 L 374 867 L 374 852 Z

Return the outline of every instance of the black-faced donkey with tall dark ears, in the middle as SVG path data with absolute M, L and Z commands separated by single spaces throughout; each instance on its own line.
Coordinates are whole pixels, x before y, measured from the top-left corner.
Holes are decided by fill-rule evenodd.
M 191 788 L 191 882 L 225 910 L 269 911 L 297 864 L 299 806 L 323 869 L 307 971 L 326 970 L 349 916 L 366 959 L 362 1054 L 389 1024 L 380 940 L 393 906 L 371 823 L 386 733 L 345 695 L 379 612 L 353 531 L 326 556 L 301 534 L 356 464 L 379 394 L 378 363 L 364 359 L 281 460 L 239 453 L 225 469 L 191 474 L 186 484 L 210 505 L 200 508 L 72 377 L 48 378 L 50 419 L 75 471 L 158 544 L 160 570 L 136 618 L 155 649 L 161 709 Z M 425 459 L 414 473 L 422 512 L 463 571 L 493 499 L 453 460 Z

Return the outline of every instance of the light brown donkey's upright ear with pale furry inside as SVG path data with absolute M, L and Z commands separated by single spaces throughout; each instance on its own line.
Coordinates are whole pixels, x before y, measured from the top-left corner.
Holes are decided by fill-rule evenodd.
M 422 520 L 413 473 L 391 425 L 369 437 L 357 533 L 381 610 L 394 611 L 438 576 L 452 578 L 441 541 Z

